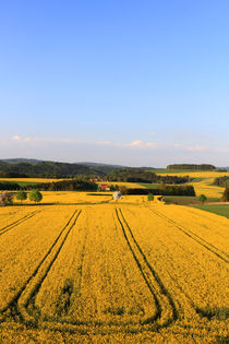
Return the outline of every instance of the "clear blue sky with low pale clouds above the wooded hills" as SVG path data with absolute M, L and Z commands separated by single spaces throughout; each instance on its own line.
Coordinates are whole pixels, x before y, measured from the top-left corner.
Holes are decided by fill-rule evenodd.
M 0 158 L 229 165 L 229 1 L 1 1 Z

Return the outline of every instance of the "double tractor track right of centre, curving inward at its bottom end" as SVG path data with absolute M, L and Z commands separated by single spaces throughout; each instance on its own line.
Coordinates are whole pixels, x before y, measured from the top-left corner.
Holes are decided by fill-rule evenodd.
M 116 215 L 122 228 L 122 233 L 128 244 L 128 247 L 137 264 L 137 268 L 150 294 L 154 297 L 157 309 L 156 313 L 152 318 L 144 321 L 142 324 L 144 325 L 146 323 L 154 323 L 155 321 L 158 321 L 159 327 L 166 328 L 179 318 L 178 309 L 174 305 L 174 301 L 169 292 L 166 289 L 157 272 L 149 264 L 145 253 L 137 244 L 133 235 L 133 232 L 120 209 L 119 210 L 116 209 Z M 166 319 L 164 319 L 164 322 L 160 323 L 160 319 L 164 317 L 164 315 L 166 315 L 168 308 L 170 308 L 170 315 L 167 315 Z

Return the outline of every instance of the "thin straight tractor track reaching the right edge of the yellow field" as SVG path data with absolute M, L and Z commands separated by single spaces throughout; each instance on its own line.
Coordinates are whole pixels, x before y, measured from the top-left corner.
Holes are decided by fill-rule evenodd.
M 204 240 L 203 238 L 201 238 L 197 234 L 193 233 L 190 229 L 186 229 L 185 227 L 183 227 L 182 225 L 180 225 L 179 223 L 177 223 L 176 221 L 167 217 L 166 215 L 152 210 L 149 207 L 147 207 L 147 210 L 152 213 L 154 213 L 155 215 L 157 215 L 158 217 L 165 220 L 167 223 L 173 225 L 177 229 L 179 229 L 180 232 L 182 232 L 184 235 L 186 235 L 190 239 L 194 240 L 195 242 L 197 242 L 198 245 L 201 245 L 202 247 L 204 247 L 205 249 L 207 249 L 209 252 L 212 252 L 213 254 L 215 254 L 216 257 L 218 257 L 219 259 L 221 259 L 222 261 L 225 261 L 226 263 L 229 262 L 228 260 L 228 254 L 226 252 L 224 252 L 222 250 L 218 249 L 217 247 L 215 247 L 214 245 L 209 244 L 208 241 Z

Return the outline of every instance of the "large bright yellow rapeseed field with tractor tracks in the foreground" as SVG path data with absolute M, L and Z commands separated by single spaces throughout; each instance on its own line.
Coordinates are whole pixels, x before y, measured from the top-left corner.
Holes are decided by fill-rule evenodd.
M 228 229 L 143 195 L 1 207 L 0 342 L 227 341 Z

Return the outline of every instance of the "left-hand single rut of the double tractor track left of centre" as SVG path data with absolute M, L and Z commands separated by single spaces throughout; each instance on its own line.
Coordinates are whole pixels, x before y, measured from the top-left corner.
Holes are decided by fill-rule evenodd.
M 68 227 L 70 226 L 71 222 L 73 221 L 74 216 L 76 215 L 77 217 L 80 216 L 81 211 L 74 211 L 73 214 L 71 215 L 71 217 L 69 218 L 68 223 L 65 224 L 65 226 L 60 230 L 59 235 L 57 236 L 57 238 L 55 239 L 55 241 L 52 242 L 52 245 L 50 246 L 50 248 L 48 249 L 47 253 L 44 256 L 44 258 L 41 259 L 41 261 L 38 263 L 38 265 L 36 266 L 36 269 L 34 270 L 34 272 L 31 274 L 31 276 L 26 280 L 26 282 L 22 285 L 22 287 L 20 288 L 20 290 L 14 295 L 14 297 L 11 299 L 11 301 L 3 308 L 0 310 L 0 313 L 2 315 L 2 317 L 0 316 L 0 322 L 4 321 L 5 318 L 13 317 L 14 315 L 19 315 L 19 305 L 17 301 L 20 299 L 20 297 L 22 296 L 23 292 L 27 288 L 28 284 L 32 282 L 32 280 L 37 275 L 39 269 L 43 266 L 43 264 L 45 263 L 45 261 L 48 259 L 48 257 L 52 253 L 52 251 L 55 250 L 55 248 L 58 246 L 59 241 L 61 240 L 61 236 L 64 234 L 64 232 L 68 230 Z M 76 220 L 74 220 L 74 223 L 76 222 Z M 72 226 L 71 226 L 72 227 Z M 69 232 L 68 232 L 69 233 Z M 63 242 L 64 244 L 64 242 Z M 61 246 L 62 247 L 62 246 Z M 16 318 L 19 318 L 16 316 Z

